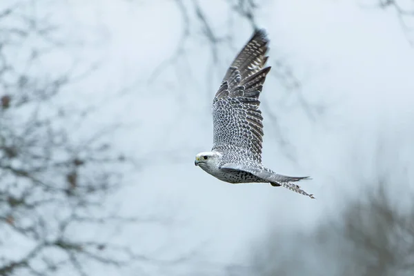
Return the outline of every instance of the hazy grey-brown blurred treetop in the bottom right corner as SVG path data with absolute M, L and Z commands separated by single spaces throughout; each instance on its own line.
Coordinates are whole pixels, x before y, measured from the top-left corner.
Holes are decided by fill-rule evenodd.
M 274 228 L 253 247 L 254 275 L 412 275 L 413 206 L 390 199 L 392 181 L 313 230 Z M 404 195 L 412 200 L 413 195 Z

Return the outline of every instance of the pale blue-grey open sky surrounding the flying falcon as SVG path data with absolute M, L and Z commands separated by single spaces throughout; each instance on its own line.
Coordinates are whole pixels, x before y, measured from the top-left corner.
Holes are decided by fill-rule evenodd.
M 408 168 L 404 179 L 411 185 L 392 190 L 412 190 L 414 49 L 394 12 L 359 3 L 267 0 L 256 14 L 270 38 L 269 65 L 283 58 L 302 82 L 299 91 L 287 92 L 279 79 L 266 81 L 261 99 L 277 116 L 294 159 L 277 143 L 266 108 L 263 161 L 285 175 L 310 175 L 313 180 L 302 188 L 317 198 L 311 200 L 266 184 L 226 184 L 194 166 L 195 155 L 212 146 L 210 103 L 226 66 L 251 35 L 248 23 L 235 17 L 236 52 L 219 47 L 222 60 L 213 77 L 207 77 L 210 49 L 198 35 L 186 44 L 185 60 L 148 83 L 183 31 L 174 1 L 50 1 L 51 16 L 70 34 L 79 67 L 99 62 L 94 74 L 75 85 L 79 95 L 66 93 L 59 101 L 99 105 L 92 126 L 126 126 L 112 139 L 141 163 L 125 177 L 130 186 L 117 195 L 122 210 L 172 220 L 117 238 L 164 259 L 199 249 L 188 268 L 172 269 L 185 274 L 202 270 L 194 265 L 198 261 L 246 264 L 252 244 L 270 227 L 306 230 L 336 217 L 350 197 L 364 197 L 361 179 L 376 179 L 377 170 L 398 179 L 402 167 Z M 228 6 L 214 0 L 203 8 L 219 32 Z M 45 66 L 59 68 L 64 60 Z M 128 89 L 119 97 L 121 88 Z M 324 112 L 313 112 L 311 119 L 298 92 L 310 106 L 325 106 Z M 79 135 L 82 131 L 88 130 Z M 378 141 L 385 145 L 382 155 Z

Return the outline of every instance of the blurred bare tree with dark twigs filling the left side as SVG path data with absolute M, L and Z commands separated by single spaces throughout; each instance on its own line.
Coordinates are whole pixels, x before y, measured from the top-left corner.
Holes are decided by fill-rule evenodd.
M 50 52 L 66 47 L 65 36 L 57 39 L 59 28 L 26 4 L 0 10 L 1 23 L 10 19 L 0 30 L 0 275 L 90 275 L 92 264 L 152 262 L 108 240 L 118 228 L 164 223 L 124 217 L 108 204 L 130 162 L 109 137 L 121 124 L 81 134 L 72 127 L 88 126 L 90 109 L 61 108 L 55 99 L 90 72 L 45 66 Z

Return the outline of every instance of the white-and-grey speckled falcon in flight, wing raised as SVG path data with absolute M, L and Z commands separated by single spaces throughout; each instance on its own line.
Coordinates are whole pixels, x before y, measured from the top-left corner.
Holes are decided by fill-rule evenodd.
M 270 66 L 268 39 L 256 30 L 235 58 L 213 99 L 213 149 L 200 152 L 195 166 L 229 183 L 270 183 L 314 198 L 295 182 L 309 177 L 278 175 L 262 165 L 262 112 L 259 95 Z

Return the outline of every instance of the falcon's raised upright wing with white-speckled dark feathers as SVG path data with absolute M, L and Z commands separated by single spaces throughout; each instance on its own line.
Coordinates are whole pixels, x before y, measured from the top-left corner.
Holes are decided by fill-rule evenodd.
M 256 30 L 239 52 L 213 100 L 213 150 L 226 146 L 242 148 L 250 157 L 262 161 L 263 124 L 259 95 L 270 67 L 268 39 L 264 30 Z

